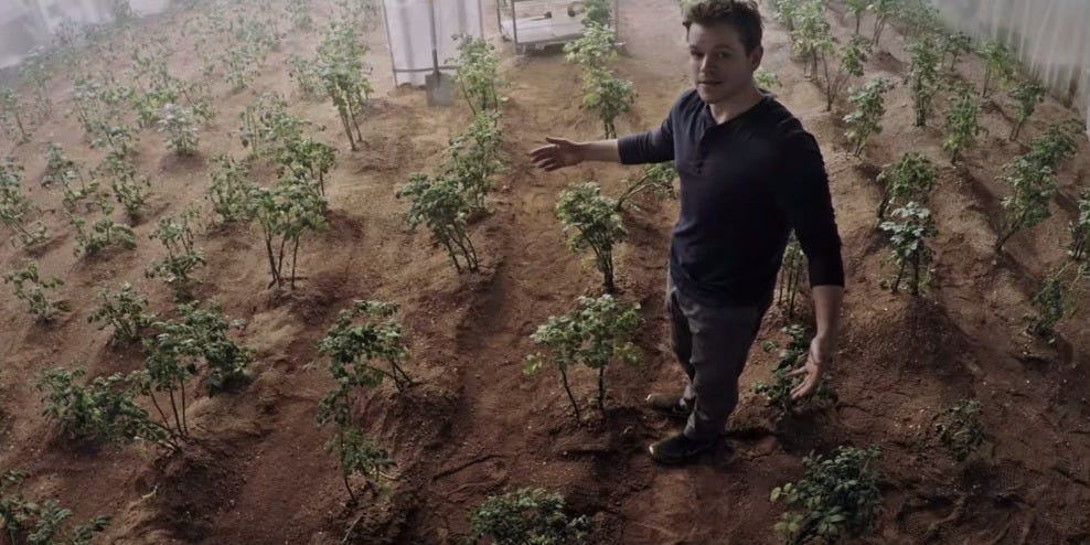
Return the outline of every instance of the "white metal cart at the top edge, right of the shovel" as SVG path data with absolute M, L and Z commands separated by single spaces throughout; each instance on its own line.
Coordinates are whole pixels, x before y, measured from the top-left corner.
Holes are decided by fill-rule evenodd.
M 583 20 L 568 15 L 579 3 L 579 0 L 498 0 L 495 23 L 500 36 L 514 43 L 519 54 L 525 54 L 531 47 L 543 50 L 563 45 L 583 38 L 585 32 Z M 616 31 L 620 1 L 612 0 L 612 4 L 610 26 Z

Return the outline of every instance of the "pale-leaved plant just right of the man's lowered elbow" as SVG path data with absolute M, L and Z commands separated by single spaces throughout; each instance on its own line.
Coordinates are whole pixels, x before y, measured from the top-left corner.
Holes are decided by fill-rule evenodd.
M 897 267 L 897 274 L 893 280 L 885 280 L 884 287 L 897 293 L 904 280 L 908 284 L 908 292 L 918 296 L 920 288 L 931 280 L 934 253 L 927 242 L 938 234 L 938 229 L 931 211 L 915 202 L 895 210 L 893 216 L 894 220 L 883 222 L 880 228 L 889 235 L 893 245 L 893 252 L 885 260 Z

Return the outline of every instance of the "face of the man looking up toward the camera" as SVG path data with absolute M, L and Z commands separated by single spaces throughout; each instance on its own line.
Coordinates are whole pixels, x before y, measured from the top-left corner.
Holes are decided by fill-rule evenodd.
M 693 85 L 705 103 L 722 103 L 745 90 L 762 54 L 758 45 L 747 55 L 741 35 L 729 24 L 693 23 L 688 29 Z

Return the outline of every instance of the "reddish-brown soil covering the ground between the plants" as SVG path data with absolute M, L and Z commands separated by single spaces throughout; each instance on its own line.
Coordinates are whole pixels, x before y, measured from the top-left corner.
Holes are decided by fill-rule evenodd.
M 320 29 L 333 11 L 325 2 L 316 6 Z M 192 39 L 179 31 L 202 9 L 204 3 L 142 21 L 136 32 L 171 36 L 173 68 L 196 77 Z M 492 3 L 484 9 L 490 15 Z M 626 50 L 617 70 L 639 92 L 634 110 L 619 122 L 624 133 L 658 125 L 687 77 L 676 4 L 627 0 L 622 9 Z M 847 32 L 835 14 L 831 20 L 838 33 Z M 488 28 L 495 33 L 492 24 Z M 11 152 L 25 165 L 26 186 L 54 236 L 33 257 L 45 275 L 65 280 L 60 293 L 72 310 L 57 323 L 39 325 L 10 286 L 0 290 L 0 470 L 29 471 L 28 495 L 56 496 L 77 517 L 113 515 L 100 543 L 456 544 L 468 532 L 468 514 L 488 495 L 545 487 L 563 493 L 575 511 L 594 516 L 596 544 L 722 545 L 777 542 L 772 524 L 782 507 L 768 501 L 769 492 L 802 474 L 806 453 L 874 444 L 885 450 L 885 512 L 866 543 L 1090 543 L 1086 292 L 1077 296 L 1081 308 L 1062 322 L 1055 346 L 1022 333 L 1032 313 L 1030 293 L 1065 259 L 1073 197 L 1086 186 L 1090 168 L 1084 141 L 1059 175 L 1052 217 L 1016 235 L 1007 253 L 997 256 L 992 245 L 1007 189 L 996 174 L 1025 147 L 1005 139 L 1009 105 L 1002 98 L 987 105 L 987 132 L 952 168 L 941 152 L 939 131 L 911 127 L 908 88 L 899 85 L 887 99 L 884 132 L 865 159 L 853 158 L 845 152 L 838 121 L 845 106 L 823 111 L 820 90 L 791 58 L 786 32 L 769 23 L 765 66 L 779 75 L 774 90 L 780 100 L 822 145 L 844 242 L 847 290 L 834 365 L 840 402 L 774 425 L 748 389 L 768 374 L 772 359 L 755 350 L 742 377 L 746 393 L 727 432 L 733 453 L 724 446 L 697 464 L 663 469 L 650 461 L 645 446 L 675 427 L 645 410 L 641 400 L 650 392 L 678 386 L 662 304 L 676 205 L 646 203 L 626 216 L 630 236 L 618 252 L 618 281 L 622 296 L 642 306 L 645 324 L 638 343 L 644 360 L 635 367 L 610 368 L 608 410 L 578 426 L 555 376 L 521 372 L 523 357 L 535 349 L 528 335 L 536 325 L 564 312 L 576 297 L 600 290 L 597 272 L 566 249 L 553 204 L 569 183 L 592 179 L 616 193 L 638 170 L 602 164 L 552 174 L 533 170 L 525 153 L 545 136 L 586 140 L 600 129 L 578 107 L 581 83 L 575 67 L 556 52 L 515 57 L 510 44 L 492 38 L 509 83 L 503 89 L 507 169 L 494 195 L 495 213 L 472 227 L 483 256 L 477 274 L 456 274 L 426 233 L 410 232 L 403 221 L 406 204 L 394 196 L 407 174 L 439 163 L 447 138 L 469 119 L 468 108 L 428 108 L 423 92 L 392 88 L 381 29 L 366 34 L 378 93 L 361 119 L 359 152 L 344 145 L 333 108 L 299 97 L 286 74 L 287 53 L 309 54 L 319 32 L 289 31 L 252 90 L 233 94 L 224 82 L 210 82 L 220 114 L 202 128 L 196 160 L 173 159 L 153 129 L 140 133 L 138 164 L 152 177 L 153 213 L 136 226 L 136 250 L 96 259 L 73 257 L 60 196 L 36 183 L 45 141 L 63 143 L 85 168 L 101 157 L 82 141 L 76 122 L 60 115 L 67 108 L 65 92 L 74 72 L 57 74 L 57 115 L 36 128 L 32 142 Z M 870 74 L 899 82 L 907 60 L 902 45 L 902 36 L 890 29 L 868 65 Z M 85 64 L 96 68 L 104 62 L 88 58 Z M 122 61 L 103 67 L 120 73 L 126 66 Z M 960 71 L 977 81 L 981 62 L 966 60 Z M 57 365 L 82 365 L 90 375 L 139 367 L 138 353 L 109 348 L 109 333 L 87 323 L 95 292 L 128 281 L 151 296 L 153 310 L 170 309 L 168 289 L 143 277 L 161 252 L 148 234 L 157 217 L 186 203 L 202 206 L 202 225 L 211 224 L 203 199 L 207 159 L 216 151 L 242 153 L 237 114 L 266 90 L 284 93 L 295 114 L 329 127 L 322 138 L 341 150 L 327 182 L 330 229 L 304 239 L 296 290 L 266 289 L 256 231 L 202 227 L 199 245 L 209 265 L 200 271 L 199 295 L 247 321 L 238 340 L 255 351 L 255 381 L 213 398 L 199 395 L 194 384 L 193 439 L 182 453 L 68 445 L 41 416 L 32 377 Z M 941 111 L 944 104 L 939 106 Z M 1049 99 L 1020 142 L 1046 124 L 1073 116 Z M 888 274 L 881 263 L 888 246 L 872 229 L 878 197 L 873 175 L 908 150 L 943 165 L 931 197 L 940 232 L 933 243 L 936 284 L 919 299 L 879 288 Z M 4 271 L 25 257 L 18 243 L 0 245 Z M 331 387 L 316 343 L 336 311 L 354 299 L 402 306 L 413 354 L 407 368 L 419 383 L 405 393 L 386 385 L 362 394 L 359 417 L 393 452 L 397 480 L 387 496 L 348 507 L 335 461 L 322 452 L 329 431 L 314 424 L 317 402 Z M 786 323 L 773 310 L 761 339 L 782 341 L 778 330 Z M 591 372 L 573 374 L 577 395 L 589 398 Z M 934 412 L 964 397 L 982 402 L 989 438 L 969 463 L 957 466 L 925 431 Z

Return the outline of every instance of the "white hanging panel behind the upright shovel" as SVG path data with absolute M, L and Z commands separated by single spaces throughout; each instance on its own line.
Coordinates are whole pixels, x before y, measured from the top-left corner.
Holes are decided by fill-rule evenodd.
M 432 68 L 431 25 L 428 0 L 383 0 L 386 43 L 394 63 L 394 83 L 421 86 Z M 439 66 L 458 57 L 458 34 L 482 35 L 480 0 L 435 0 L 436 44 Z M 421 72 L 398 72 L 417 70 Z M 444 70 L 451 73 L 452 70 Z

